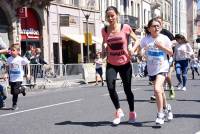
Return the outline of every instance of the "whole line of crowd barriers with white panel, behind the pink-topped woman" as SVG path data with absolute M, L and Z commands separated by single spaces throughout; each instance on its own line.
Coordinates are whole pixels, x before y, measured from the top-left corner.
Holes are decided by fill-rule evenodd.
M 137 63 L 132 64 L 133 76 L 135 76 L 138 67 Z M 103 77 L 105 79 L 106 64 L 103 65 Z M 25 76 L 27 67 L 24 67 Z M 95 81 L 95 65 L 87 64 L 31 64 L 31 79 L 24 79 L 23 84 L 27 86 L 38 86 L 38 88 L 69 87 L 73 84 L 82 84 Z M 120 77 L 118 77 L 120 79 Z

